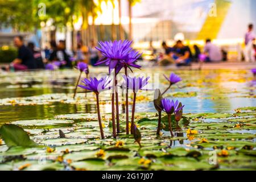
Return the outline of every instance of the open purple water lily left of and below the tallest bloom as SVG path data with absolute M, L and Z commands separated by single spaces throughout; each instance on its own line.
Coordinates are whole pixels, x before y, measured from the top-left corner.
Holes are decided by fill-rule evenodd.
M 104 90 L 109 90 L 110 88 L 112 88 L 112 86 L 108 86 L 109 83 L 112 80 L 109 80 L 109 77 L 105 76 L 100 78 L 100 80 L 97 80 L 97 78 L 84 78 L 84 80 L 81 80 L 81 82 L 85 85 L 79 85 L 79 87 L 92 91 L 94 93 L 100 93 Z

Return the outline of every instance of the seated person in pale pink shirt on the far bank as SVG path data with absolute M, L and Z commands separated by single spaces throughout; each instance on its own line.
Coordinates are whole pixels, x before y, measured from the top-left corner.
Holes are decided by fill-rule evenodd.
M 207 39 L 204 47 L 204 53 L 207 55 L 207 61 L 217 62 L 222 60 L 221 49 L 212 44 L 210 39 Z

